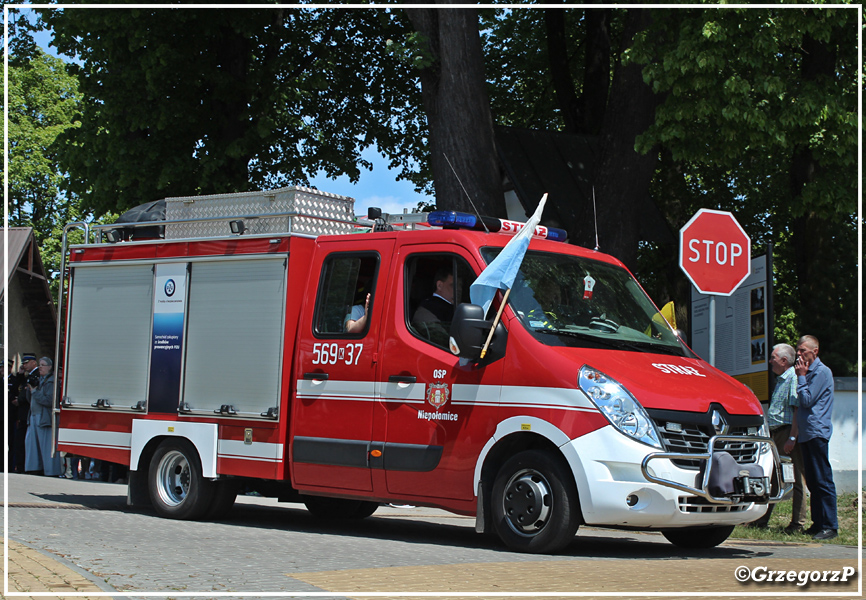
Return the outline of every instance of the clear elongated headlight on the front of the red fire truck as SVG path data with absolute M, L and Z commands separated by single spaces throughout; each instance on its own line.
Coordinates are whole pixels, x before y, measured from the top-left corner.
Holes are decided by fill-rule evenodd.
M 618 381 L 584 365 L 578 373 L 577 385 L 611 425 L 639 442 L 663 450 L 649 415 Z

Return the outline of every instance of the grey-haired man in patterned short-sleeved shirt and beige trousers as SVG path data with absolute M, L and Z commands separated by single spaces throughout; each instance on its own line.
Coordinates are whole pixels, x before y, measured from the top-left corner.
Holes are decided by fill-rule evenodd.
M 788 344 L 776 344 L 770 354 L 770 368 L 776 374 L 776 387 L 770 396 L 770 408 L 767 410 L 767 426 L 776 448 L 779 448 L 794 461 L 794 498 L 791 511 L 791 523 L 785 527 L 785 533 L 798 533 L 806 525 L 806 479 L 803 470 L 803 453 L 800 446 L 793 444 L 787 449 L 787 442 L 797 440 L 797 375 L 794 373 L 796 352 Z M 767 507 L 764 516 L 750 523 L 751 527 L 766 529 L 770 524 L 775 504 Z

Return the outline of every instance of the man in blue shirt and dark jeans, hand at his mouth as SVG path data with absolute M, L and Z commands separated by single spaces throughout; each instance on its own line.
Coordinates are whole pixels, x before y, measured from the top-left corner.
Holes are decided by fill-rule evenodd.
M 789 439 L 785 452 L 794 444 L 803 451 L 806 485 L 812 494 L 812 526 L 806 533 L 812 539 L 829 540 L 838 535 L 836 486 L 830 466 L 828 444 L 833 433 L 833 373 L 818 358 L 818 339 L 804 335 L 797 342 L 797 435 Z

